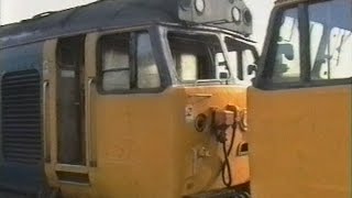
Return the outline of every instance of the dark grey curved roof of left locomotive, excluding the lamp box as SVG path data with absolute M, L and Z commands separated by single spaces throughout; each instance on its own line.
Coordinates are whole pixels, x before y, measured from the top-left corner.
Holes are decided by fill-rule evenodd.
M 0 28 L 0 45 L 147 22 L 179 22 L 173 0 L 100 0 Z

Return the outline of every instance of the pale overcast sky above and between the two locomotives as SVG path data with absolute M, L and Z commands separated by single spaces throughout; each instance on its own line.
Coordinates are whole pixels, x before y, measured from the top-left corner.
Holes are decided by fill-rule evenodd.
M 62 10 L 94 1 L 95 0 L 0 0 L 1 24 L 18 22 L 42 12 Z M 261 46 L 266 32 L 266 24 L 273 7 L 273 0 L 245 0 L 245 2 L 252 10 L 254 18 L 254 35 L 252 37 L 257 41 Z

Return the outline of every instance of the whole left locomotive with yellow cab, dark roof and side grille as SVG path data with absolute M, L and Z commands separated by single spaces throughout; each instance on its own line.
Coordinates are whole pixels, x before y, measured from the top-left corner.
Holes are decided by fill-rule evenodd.
M 18 119 L 0 135 L 0 191 L 248 197 L 251 31 L 251 13 L 235 0 L 106 0 L 3 26 L 0 62 L 10 81 L 1 86 L 23 90 L 2 92 L 2 113 L 28 101 L 21 81 L 31 70 L 42 125 L 21 131 L 33 119 L 10 114 Z M 21 158 L 32 151 L 35 161 Z M 16 168 L 25 180 L 12 177 Z

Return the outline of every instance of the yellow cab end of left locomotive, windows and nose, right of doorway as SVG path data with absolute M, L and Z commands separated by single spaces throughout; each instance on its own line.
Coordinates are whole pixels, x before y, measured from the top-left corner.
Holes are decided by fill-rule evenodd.
M 241 190 L 250 182 L 245 98 L 251 76 L 233 70 L 245 70 L 255 50 L 219 32 L 156 29 L 165 36 L 160 44 L 151 40 L 152 31 L 134 32 L 138 68 L 119 70 L 138 72 L 134 85 L 132 78 L 109 81 L 107 74 L 97 78 L 91 94 L 97 167 L 90 178 L 97 197 L 221 197 L 238 190 L 245 195 Z M 97 36 L 100 54 L 90 63 L 101 65 L 95 68 L 120 63 L 110 63 L 123 56 L 110 36 L 123 34 L 128 33 Z M 157 51 L 166 68 L 158 68 L 153 57 L 158 45 L 166 47 Z M 163 85 L 165 76 L 168 86 Z

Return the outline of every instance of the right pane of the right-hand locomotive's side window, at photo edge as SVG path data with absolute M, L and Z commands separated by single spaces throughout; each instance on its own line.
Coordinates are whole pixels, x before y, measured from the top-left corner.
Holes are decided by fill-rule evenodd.
M 352 77 L 351 2 L 309 4 L 308 12 L 312 79 Z

